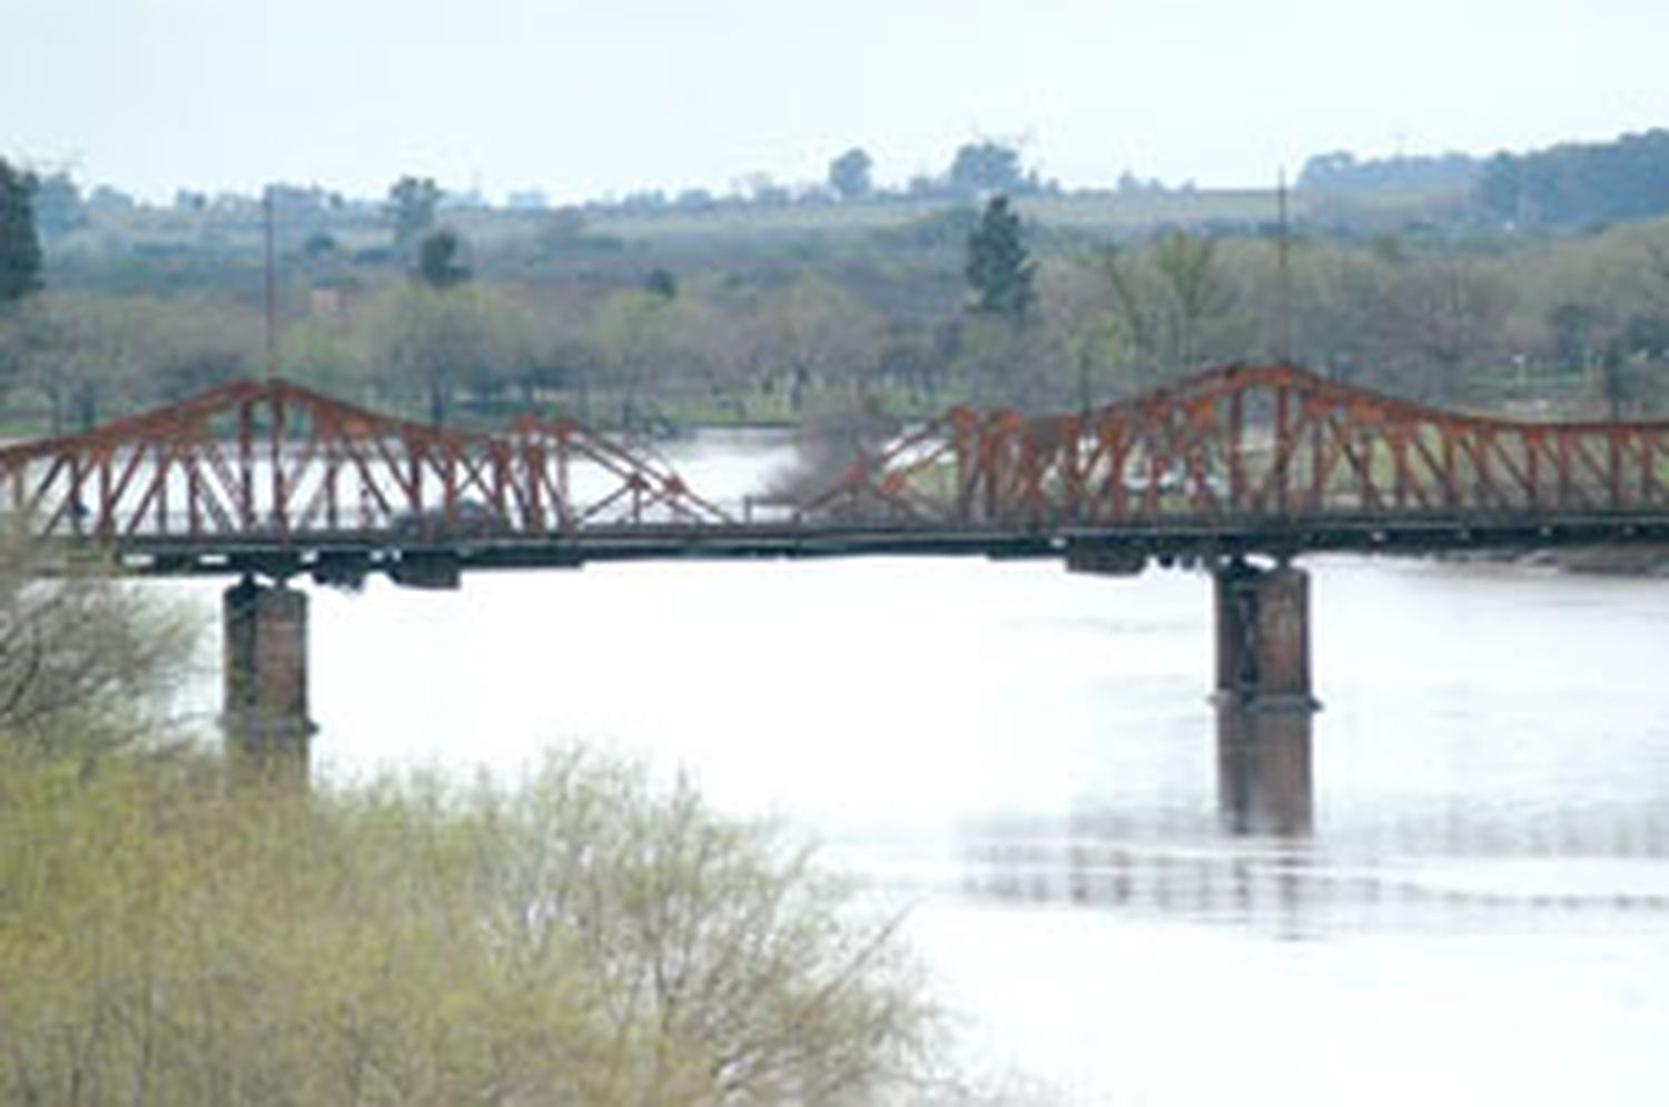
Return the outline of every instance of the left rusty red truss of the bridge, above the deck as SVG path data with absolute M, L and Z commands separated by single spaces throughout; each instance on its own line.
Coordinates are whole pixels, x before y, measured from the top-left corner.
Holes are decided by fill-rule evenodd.
M 571 421 L 472 434 L 287 382 L 232 382 L 0 449 L 0 504 L 43 536 L 546 534 L 723 523 L 663 461 Z

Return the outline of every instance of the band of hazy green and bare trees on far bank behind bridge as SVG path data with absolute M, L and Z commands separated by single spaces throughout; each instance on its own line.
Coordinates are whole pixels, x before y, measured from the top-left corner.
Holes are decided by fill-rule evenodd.
M 1023 207 L 1020 209 L 1025 210 Z M 973 311 L 976 212 L 811 249 L 643 249 L 536 264 L 459 242 L 441 284 L 290 255 L 279 369 L 441 421 L 509 409 L 629 426 L 794 421 L 863 399 L 1063 407 L 1223 361 L 1292 356 L 1444 402 L 1659 411 L 1669 225 L 1467 249 L 1165 230 L 1112 244 L 1025 224 L 1023 319 Z M 48 269 L 50 275 L 50 269 Z M 154 291 L 50 289 L 0 324 L 13 419 L 87 426 L 265 367 L 259 269 Z

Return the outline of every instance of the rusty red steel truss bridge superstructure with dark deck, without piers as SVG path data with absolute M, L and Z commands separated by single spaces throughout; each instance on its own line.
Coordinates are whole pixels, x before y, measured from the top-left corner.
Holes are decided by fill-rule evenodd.
M 0 449 L 0 511 L 155 574 L 865 553 L 1148 559 L 1669 541 L 1669 422 L 1524 422 L 1225 366 L 1093 411 L 958 407 L 769 513 L 567 421 L 464 432 L 274 379 Z

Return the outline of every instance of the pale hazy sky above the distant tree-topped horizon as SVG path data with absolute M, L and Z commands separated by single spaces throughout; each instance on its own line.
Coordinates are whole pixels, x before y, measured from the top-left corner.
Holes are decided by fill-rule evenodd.
M 0 0 L 0 154 L 154 199 L 940 172 L 1268 184 L 1669 125 L 1669 0 Z

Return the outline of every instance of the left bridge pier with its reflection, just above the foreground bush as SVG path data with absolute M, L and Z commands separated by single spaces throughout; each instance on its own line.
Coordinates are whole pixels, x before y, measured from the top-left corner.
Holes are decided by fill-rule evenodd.
M 227 761 L 237 780 L 307 786 L 307 594 L 244 578 L 220 603 Z

